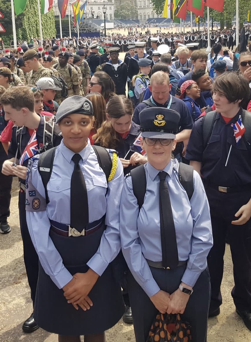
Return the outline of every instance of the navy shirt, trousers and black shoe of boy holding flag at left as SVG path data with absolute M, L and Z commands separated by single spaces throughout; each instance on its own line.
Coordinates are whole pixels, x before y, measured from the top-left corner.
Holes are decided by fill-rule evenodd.
M 42 148 L 44 146 L 44 127 L 45 127 L 45 118 L 41 116 L 40 123 L 36 132 L 38 147 Z M 17 144 L 16 141 L 16 131 L 20 131 L 20 144 Z M 28 128 L 16 127 L 14 126 L 12 129 L 12 137 L 11 144 L 8 149 L 8 159 L 15 158 L 17 152 L 17 160 L 19 160 L 30 140 L 30 133 Z M 54 127 L 54 134 L 52 137 L 51 143 L 48 145 L 47 149 L 52 146 L 57 146 L 60 144 L 62 140 L 62 136 L 60 135 L 60 131 L 56 126 Z M 41 152 L 44 149 L 41 150 Z M 27 166 L 28 160 L 23 163 L 23 166 Z M 38 279 L 38 256 L 33 246 L 32 240 L 30 239 L 30 234 L 28 232 L 27 222 L 26 222 L 26 214 L 25 214 L 25 193 L 26 186 L 25 180 L 19 179 L 20 192 L 18 197 L 18 208 L 19 208 L 19 220 L 20 220 L 20 229 L 21 235 L 23 239 L 23 248 L 24 248 L 24 264 L 27 273 L 28 283 L 30 287 L 30 295 L 33 302 L 33 306 L 35 303 L 36 297 L 36 288 L 37 288 L 37 279 Z M 33 317 L 30 318 L 28 325 L 26 326 L 26 322 L 24 323 L 23 330 L 26 332 L 34 331 L 38 326 L 36 322 L 34 322 Z

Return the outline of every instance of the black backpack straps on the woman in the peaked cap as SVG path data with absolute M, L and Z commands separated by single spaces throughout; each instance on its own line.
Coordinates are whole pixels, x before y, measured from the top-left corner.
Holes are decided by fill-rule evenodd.
M 147 189 L 147 179 L 146 172 L 143 165 L 132 169 L 128 174 L 131 176 L 131 181 L 133 183 L 133 193 L 137 198 L 139 210 L 141 209 Z M 179 163 L 178 177 L 180 184 L 186 190 L 189 201 L 193 195 L 193 167 L 184 163 Z

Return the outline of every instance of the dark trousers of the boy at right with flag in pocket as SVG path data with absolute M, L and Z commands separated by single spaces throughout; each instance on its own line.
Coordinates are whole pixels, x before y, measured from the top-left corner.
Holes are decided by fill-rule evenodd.
M 231 224 L 235 213 L 250 199 L 250 192 L 221 193 L 206 187 L 213 230 L 213 247 L 208 255 L 211 277 L 210 311 L 222 304 L 225 239 L 228 235 L 234 265 L 235 286 L 231 291 L 235 306 L 240 311 L 251 311 L 251 220 L 241 226 Z

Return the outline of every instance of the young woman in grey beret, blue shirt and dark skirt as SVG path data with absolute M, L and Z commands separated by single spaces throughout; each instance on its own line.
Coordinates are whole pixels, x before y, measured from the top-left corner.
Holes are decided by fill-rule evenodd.
M 125 310 L 115 271 L 123 167 L 115 151 L 91 146 L 93 120 L 87 98 L 64 100 L 56 114 L 62 143 L 35 155 L 26 179 L 27 224 L 40 262 L 34 317 L 59 342 L 80 335 L 104 342 Z

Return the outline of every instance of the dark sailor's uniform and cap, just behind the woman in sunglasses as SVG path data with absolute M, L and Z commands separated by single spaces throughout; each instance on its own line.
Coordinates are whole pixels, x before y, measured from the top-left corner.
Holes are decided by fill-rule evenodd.
M 120 48 L 110 48 L 109 53 L 119 53 Z M 126 81 L 128 76 L 127 65 L 124 61 L 118 59 L 117 64 L 112 64 L 112 61 L 106 62 L 102 68 L 113 80 L 117 95 L 126 94 Z

